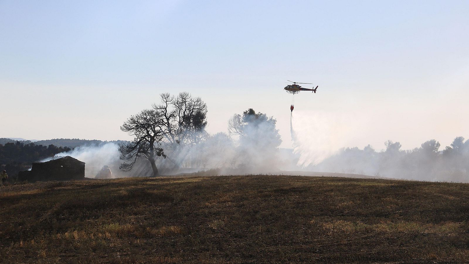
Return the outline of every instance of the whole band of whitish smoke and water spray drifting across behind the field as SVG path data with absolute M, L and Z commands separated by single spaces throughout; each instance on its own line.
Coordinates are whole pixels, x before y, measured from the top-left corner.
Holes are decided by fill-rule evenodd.
M 190 135 L 197 142 L 182 142 L 171 152 L 163 144 L 167 158 L 159 158 L 162 175 L 212 170 L 215 174 L 278 173 L 280 170 L 322 171 L 382 176 L 396 179 L 469 182 L 469 140 L 458 137 L 451 146 L 440 148 L 436 140 L 420 148 L 401 150 L 399 142 L 386 141 L 382 151 L 368 145 L 351 146 L 361 135 L 364 122 L 353 116 L 334 116 L 320 112 L 292 113 L 293 153 L 279 151 L 280 136 L 275 120 L 265 115 L 243 121 L 241 115 L 230 119 L 238 134 L 206 132 Z M 232 126 L 233 128 L 233 126 Z M 231 134 L 231 135 L 230 135 Z M 150 176 L 151 166 L 139 158 L 132 171 L 120 171 L 116 143 L 102 143 L 75 148 L 57 156 L 70 155 L 86 163 L 85 175 L 95 178 L 103 165 L 109 165 L 113 178 Z M 293 161 L 293 162 L 292 162 Z

